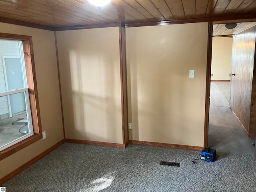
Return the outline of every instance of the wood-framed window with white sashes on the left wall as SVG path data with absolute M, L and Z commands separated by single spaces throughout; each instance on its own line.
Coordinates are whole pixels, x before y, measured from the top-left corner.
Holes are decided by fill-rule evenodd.
M 0 160 L 41 138 L 32 37 L 0 33 Z

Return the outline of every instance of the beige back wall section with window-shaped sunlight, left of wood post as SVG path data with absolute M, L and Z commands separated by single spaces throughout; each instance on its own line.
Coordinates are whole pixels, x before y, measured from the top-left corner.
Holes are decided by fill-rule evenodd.
M 66 138 L 122 143 L 118 27 L 57 32 Z

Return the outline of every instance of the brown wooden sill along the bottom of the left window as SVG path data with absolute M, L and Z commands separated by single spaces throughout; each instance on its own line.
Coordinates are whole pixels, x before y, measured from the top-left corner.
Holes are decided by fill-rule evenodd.
M 16 153 L 17 151 L 25 148 L 26 146 L 29 146 L 30 144 L 40 140 L 42 138 L 42 135 L 32 135 L 29 138 L 26 138 L 22 140 L 21 142 L 18 142 L 14 144 L 13 146 L 10 146 L 0 152 L 0 160 L 3 160 L 4 158 Z

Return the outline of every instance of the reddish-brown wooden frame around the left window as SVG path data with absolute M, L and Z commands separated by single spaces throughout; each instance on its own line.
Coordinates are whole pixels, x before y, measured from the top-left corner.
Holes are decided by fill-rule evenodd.
M 0 33 L 0 39 L 22 41 L 27 82 L 28 82 L 28 94 L 29 94 L 30 109 L 31 109 L 31 116 L 32 116 L 32 127 L 34 132 L 34 135 L 30 136 L 29 138 L 26 138 L 0 151 L 0 160 L 2 160 L 14 154 L 15 152 L 25 148 L 26 146 L 40 140 L 42 138 L 42 125 L 41 125 L 39 102 L 38 102 L 32 36 Z

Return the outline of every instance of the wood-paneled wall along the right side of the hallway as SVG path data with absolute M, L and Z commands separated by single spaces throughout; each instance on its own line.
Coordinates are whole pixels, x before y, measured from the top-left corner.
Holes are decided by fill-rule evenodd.
M 253 83 L 256 83 L 255 80 L 253 82 L 255 40 L 256 27 L 245 30 L 234 36 L 232 52 L 232 74 L 235 76 L 231 78 L 230 107 L 250 136 L 255 135 L 255 128 L 250 126 L 255 123 L 253 116 L 256 114 L 256 109 L 251 111 L 255 108 L 253 105 L 256 102 L 253 99 L 256 93 L 252 97 L 252 86 Z M 256 88 L 254 88 L 254 92 L 256 92 Z

